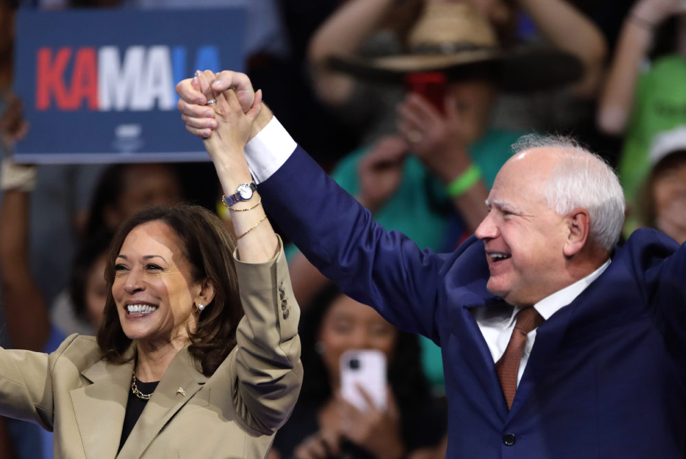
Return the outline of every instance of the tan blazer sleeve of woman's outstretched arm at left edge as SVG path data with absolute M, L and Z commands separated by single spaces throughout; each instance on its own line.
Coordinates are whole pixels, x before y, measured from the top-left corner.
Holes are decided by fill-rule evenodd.
M 0 348 L 0 414 L 52 430 L 53 373 L 56 362 L 77 334 L 51 354 Z

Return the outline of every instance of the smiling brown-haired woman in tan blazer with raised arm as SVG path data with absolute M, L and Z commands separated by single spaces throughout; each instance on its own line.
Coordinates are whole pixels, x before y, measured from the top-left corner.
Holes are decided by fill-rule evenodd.
M 230 135 L 205 145 L 231 197 L 251 182 L 236 158 L 260 106 L 216 99 Z M 58 458 L 264 458 L 300 390 L 300 312 L 281 240 L 246 197 L 227 199 L 237 243 L 197 206 L 123 223 L 97 338 L 0 349 L 0 414 L 54 430 Z

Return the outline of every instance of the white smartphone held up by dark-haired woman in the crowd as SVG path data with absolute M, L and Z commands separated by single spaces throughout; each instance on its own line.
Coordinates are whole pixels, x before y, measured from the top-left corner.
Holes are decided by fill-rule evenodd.
M 341 394 L 360 411 L 367 411 L 359 387 L 374 401 L 379 410 L 386 410 L 386 355 L 375 349 L 351 349 L 342 353 Z M 359 386 L 359 387 L 358 387 Z

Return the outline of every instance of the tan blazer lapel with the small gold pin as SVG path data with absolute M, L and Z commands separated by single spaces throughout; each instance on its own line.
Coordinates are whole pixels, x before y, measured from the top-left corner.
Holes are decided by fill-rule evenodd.
M 121 447 L 119 457 L 140 458 L 169 419 L 202 388 L 206 380 L 207 377 L 196 369 L 188 348 L 181 349 L 147 401 L 141 417 Z

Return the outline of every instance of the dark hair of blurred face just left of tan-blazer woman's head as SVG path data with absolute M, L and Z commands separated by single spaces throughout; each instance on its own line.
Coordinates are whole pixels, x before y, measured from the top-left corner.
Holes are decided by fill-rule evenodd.
M 113 232 L 102 231 L 86 239 L 79 247 L 71 266 L 71 279 L 69 280 L 71 303 L 76 317 L 88 323 L 91 320 L 86 313 L 86 280 L 93 271 L 93 265 L 97 259 L 107 253 L 113 235 Z

